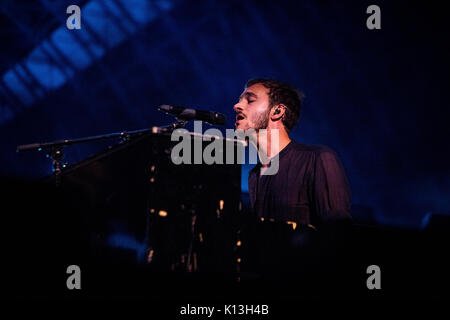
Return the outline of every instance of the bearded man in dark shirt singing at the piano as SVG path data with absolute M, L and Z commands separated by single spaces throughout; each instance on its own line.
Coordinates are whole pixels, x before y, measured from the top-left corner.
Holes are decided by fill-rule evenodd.
M 276 174 L 264 175 L 270 163 L 259 163 L 249 174 L 250 200 L 257 216 L 316 229 L 350 219 L 350 190 L 335 152 L 289 137 L 301 106 L 301 93 L 290 85 L 272 79 L 250 80 L 234 106 L 236 128 L 254 129 L 258 152 L 270 159 L 278 156 Z

